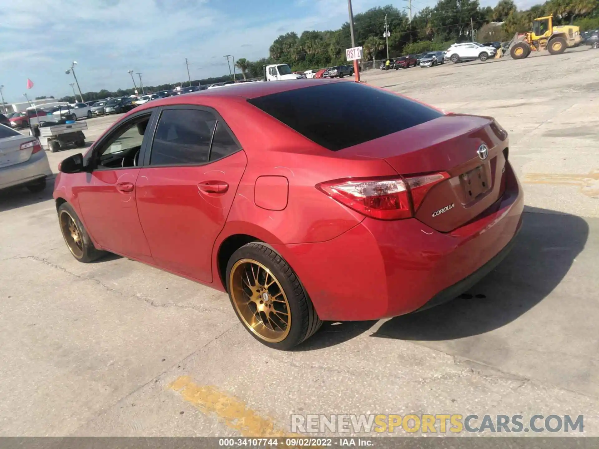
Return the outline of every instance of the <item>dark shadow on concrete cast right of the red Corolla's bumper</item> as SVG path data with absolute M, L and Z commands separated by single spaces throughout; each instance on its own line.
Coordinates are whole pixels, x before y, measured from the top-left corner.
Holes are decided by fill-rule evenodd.
M 559 285 L 588 235 L 589 227 L 580 217 L 527 207 L 511 253 L 469 292 L 446 304 L 391 318 L 371 336 L 440 341 L 504 326 Z

